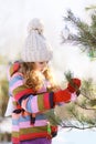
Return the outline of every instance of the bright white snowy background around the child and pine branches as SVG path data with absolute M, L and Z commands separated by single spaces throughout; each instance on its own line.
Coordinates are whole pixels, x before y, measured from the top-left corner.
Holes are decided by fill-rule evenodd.
M 0 54 L 14 61 L 22 50 L 29 21 L 41 18 L 45 24 L 45 37 L 54 50 L 52 63 L 58 81 L 63 80 L 64 71 L 67 70 L 78 78 L 92 76 L 96 81 L 96 61 L 89 61 L 76 47 L 61 44 L 66 10 L 71 9 L 77 17 L 89 21 L 85 7 L 95 3 L 95 0 L 0 0 Z M 11 122 L 7 125 L 6 130 L 9 130 Z M 53 144 L 58 143 L 96 144 L 96 132 L 61 130 L 57 137 L 53 138 Z

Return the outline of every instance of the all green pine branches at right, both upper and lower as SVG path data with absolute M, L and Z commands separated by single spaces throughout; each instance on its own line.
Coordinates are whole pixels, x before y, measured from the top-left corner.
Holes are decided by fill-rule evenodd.
M 65 25 L 65 31 L 62 32 L 62 40 L 63 43 L 78 45 L 83 52 L 93 59 L 96 58 L 96 11 L 92 13 L 90 20 L 88 24 L 68 10 L 67 16 L 64 17 L 64 21 L 68 23 Z M 75 29 L 74 33 L 70 30 L 71 24 Z M 67 82 L 71 82 L 73 74 L 67 72 L 64 75 Z M 55 119 L 55 121 L 62 127 L 96 128 L 96 84 L 92 79 L 82 80 L 81 94 L 77 101 L 65 104 L 63 107 L 57 106 L 55 111 L 61 120 Z

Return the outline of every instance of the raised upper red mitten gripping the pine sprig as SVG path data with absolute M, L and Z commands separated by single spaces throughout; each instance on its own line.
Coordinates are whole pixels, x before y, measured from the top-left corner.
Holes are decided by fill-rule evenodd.
M 81 86 L 81 80 L 77 79 L 77 78 L 74 78 L 71 80 L 71 82 L 67 84 L 67 90 L 71 92 L 71 93 L 74 93 L 76 92 Z

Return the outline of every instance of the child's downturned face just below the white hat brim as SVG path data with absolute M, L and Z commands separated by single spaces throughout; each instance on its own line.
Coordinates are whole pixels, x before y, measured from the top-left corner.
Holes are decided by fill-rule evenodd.
M 35 62 L 35 70 L 43 72 L 47 66 L 47 62 Z

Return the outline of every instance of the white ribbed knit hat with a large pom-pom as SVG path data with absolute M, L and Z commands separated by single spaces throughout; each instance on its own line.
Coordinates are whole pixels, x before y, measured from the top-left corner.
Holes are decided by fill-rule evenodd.
M 29 34 L 21 52 L 23 62 L 43 62 L 52 59 L 53 51 L 43 37 L 43 22 L 40 19 L 35 18 L 29 23 Z

